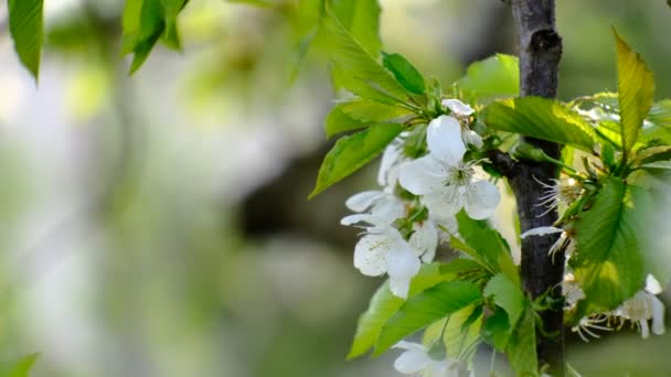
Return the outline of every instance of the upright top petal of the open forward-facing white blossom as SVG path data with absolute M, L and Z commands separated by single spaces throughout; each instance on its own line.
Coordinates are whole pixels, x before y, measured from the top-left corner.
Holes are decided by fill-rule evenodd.
M 466 153 L 461 125 L 454 117 L 443 115 L 432 120 L 426 130 L 426 143 L 430 154 L 448 165 L 456 165 Z

